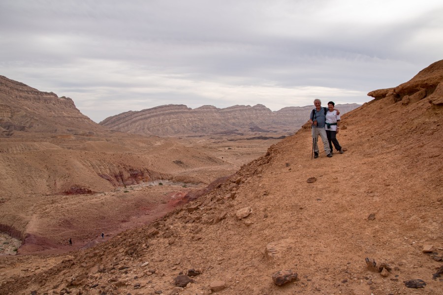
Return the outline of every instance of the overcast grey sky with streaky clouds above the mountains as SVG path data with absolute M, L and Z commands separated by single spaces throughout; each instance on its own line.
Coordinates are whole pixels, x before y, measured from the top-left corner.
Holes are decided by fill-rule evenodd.
M 0 75 L 95 122 L 364 103 L 443 59 L 442 0 L 0 0 Z

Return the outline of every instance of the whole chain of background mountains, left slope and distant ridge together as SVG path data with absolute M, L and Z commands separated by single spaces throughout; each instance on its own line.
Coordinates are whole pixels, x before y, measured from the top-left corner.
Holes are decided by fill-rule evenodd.
M 342 114 L 358 104 L 337 105 Z M 200 136 L 211 134 L 292 134 L 307 120 L 312 106 L 285 107 L 272 112 L 264 105 L 235 105 L 219 109 L 163 105 L 129 111 L 99 124 L 83 115 L 69 97 L 58 97 L 0 76 L 0 135 L 17 132 L 67 133 L 85 136 L 120 131 L 145 136 Z

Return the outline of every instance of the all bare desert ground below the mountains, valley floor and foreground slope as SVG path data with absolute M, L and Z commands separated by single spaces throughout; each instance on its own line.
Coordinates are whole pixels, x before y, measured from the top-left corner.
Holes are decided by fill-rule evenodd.
M 443 60 L 369 95 L 314 160 L 307 125 L 267 149 L 1 125 L 0 223 L 26 236 L 0 294 L 443 294 Z

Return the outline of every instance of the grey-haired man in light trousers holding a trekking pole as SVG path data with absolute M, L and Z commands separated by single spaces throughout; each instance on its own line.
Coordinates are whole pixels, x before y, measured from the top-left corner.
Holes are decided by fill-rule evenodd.
M 323 142 L 323 148 L 326 155 L 330 158 L 332 157 L 331 149 L 329 148 L 328 138 L 326 136 L 326 130 L 324 129 L 324 123 L 326 121 L 327 108 L 321 107 L 321 101 L 319 99 L 314 100 L 314 105 L 316 108 L 312 110 L 309 117 L 309 123 L 311 124 L 311 133 L 313 138 L 313 150 L 314 158 L 318 158 L 318 135 L 321 137 Z

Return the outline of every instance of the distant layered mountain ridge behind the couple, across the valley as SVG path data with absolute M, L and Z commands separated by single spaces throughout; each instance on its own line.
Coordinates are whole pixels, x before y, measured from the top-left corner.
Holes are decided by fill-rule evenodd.
M 345 114 L 359 104 L 337 104 Z M 186 105 L 163 105 L 142 111 L 129 111 L 104 119 L 101 125 L 112 130 L 142 135 L 198 136 L 202 134 L 292 134 L 309 117 L 313 106 L 285 107 L 271 111 L 257 104 L 216 108 L 205 105 L 191 109 Z

